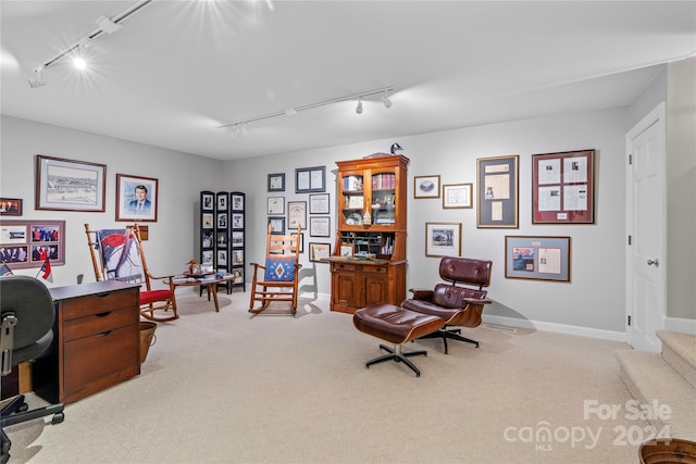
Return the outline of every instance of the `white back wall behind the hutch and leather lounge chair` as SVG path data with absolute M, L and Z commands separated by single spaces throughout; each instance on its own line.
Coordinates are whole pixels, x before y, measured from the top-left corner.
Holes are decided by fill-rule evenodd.
M 439 260 L 425 256 L 426 222 L 461 222 L 463 255 L 490 259 L 494 275 L 489 296 L 497 304 L 486 309 L 489 316 L 517 317 L 545 324 L 545 327 L 621 338 L 624 331 L 624 151 L 625 110 L 569 114 L 548 118 L 518 121 L 482 127 L 462 128 L 399 138 L 410 160 L 408 203 L 408 283 L 407 287 L 433 287 Z M 307 200 L 296 195 L 296 167 L 325 165 L 336 168 L 335 161 L 362 158 L 388 151 L 395 140 L 331 147 L 228 162 L 226 179 L 247 192 L 248 230 L 266 226 L 266 176 L 286 174 L 286 200 Z M 572 150 L 596 150 L 596 224 L 576 226 L 531 224 L 532 154 Z M 519 229 L 478 229 L 476 210 L 443 210 L 442 199 L 413 199 L 413 176 L 439 175 L 443 184 L 476 181 L 476 159 L 520 155 L 520 227 Z M 332 223 L 335 224 L 335 176 L 328 175 L 332 196 Z M 475 190 L 475 188 L 474 188 Z M 273 193 L 277 196 L 278 193 Z M 505 236 L 570 236 L 572 268 L 570 284 L 505 278 Z M 262 260 L 264 239 L 261 234 L 247 235 L 247 260 Z M 310 241 L 331 239 L 304 237 Z M 302 285 L 320 294 L 330 293 L 327 264 L 310 263 L 302 258 Z M 247 278 L 249 279 L 249 277 Z M 562 325 L 573 328 L 563 328 Z M 538 326 L 538 324 L 537 324 Z M 583 331 L 586 328 L 586 331 Z M 601 333 L 607 334 L 601 334 Z

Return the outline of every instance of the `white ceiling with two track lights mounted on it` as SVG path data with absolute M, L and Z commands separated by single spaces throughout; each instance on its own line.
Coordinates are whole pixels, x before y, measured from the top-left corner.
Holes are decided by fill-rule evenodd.
M 630 104 L 696 52 L 694 1 L 0 1 L 2 114 L 234 160 Z M 395 87 L 247 125 L 220 126 Z M 408 147 L 405 147 L 408 150 Z M 385 146 L 385 150 L 388 146 Z

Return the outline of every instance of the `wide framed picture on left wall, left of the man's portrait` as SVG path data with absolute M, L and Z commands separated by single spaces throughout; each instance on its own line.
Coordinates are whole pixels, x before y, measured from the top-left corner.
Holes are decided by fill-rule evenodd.
M 36 155 L 37 210 L 105 211 L 107 166 Z

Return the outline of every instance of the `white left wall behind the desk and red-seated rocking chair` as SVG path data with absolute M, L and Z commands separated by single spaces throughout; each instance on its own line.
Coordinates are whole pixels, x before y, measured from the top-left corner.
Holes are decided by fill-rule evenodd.
M 144 223 L 150 228 L 145 244 L 150 269 L 158 275 L 179 273 L 197 258 L 199 192 L 220 186 L 220 161 L 9 116 L 2 116 L 0 131 L 0 196 L 24 200 L 21 217 L 3 218 L 65 221 L 65 265 L 51 266 L 49 287 L 73 285 L 78 274 L 84 274 L 84 281 L 95 280 L 84 224 L 92 229 L 128 224 L 115 221 L 116 174 L 159 179 L 158 222 Z M 105 212 L 35 211 L 36 154 L 105 164 Z

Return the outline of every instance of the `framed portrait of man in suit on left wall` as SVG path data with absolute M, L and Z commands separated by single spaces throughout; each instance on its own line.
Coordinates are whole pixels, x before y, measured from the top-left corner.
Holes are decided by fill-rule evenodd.
M 156 222 L 158 179 L 116 174 L 116 221 Z

